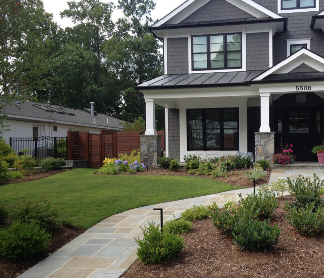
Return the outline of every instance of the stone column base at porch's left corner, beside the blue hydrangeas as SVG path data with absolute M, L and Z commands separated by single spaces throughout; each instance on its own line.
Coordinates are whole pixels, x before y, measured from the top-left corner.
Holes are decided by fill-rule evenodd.
M 161 135 L 141 135 L 141 160 L 146 166 L 157 167 L 161 156 Z

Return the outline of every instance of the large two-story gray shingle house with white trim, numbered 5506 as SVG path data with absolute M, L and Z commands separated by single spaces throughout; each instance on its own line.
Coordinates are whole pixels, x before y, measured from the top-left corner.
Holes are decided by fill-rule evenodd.
M 293 144 L 313 160 L 324 137 L 324 1 L 188 0 L 150 30 L 164 75 L 137 86 L 146 132 L 165 107 L 166 156 L 203 158 Z

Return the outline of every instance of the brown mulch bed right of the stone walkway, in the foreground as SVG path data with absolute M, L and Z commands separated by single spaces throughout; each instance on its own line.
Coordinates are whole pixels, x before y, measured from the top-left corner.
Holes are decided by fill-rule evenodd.
M 280 206 L 272 223 L 281 235 L 268 252 L 242 251 L 229 236 L 223 236 L 211 219 L 193 221 L 194 230 L 184 235 L 186 247 L 173 260 L 144 266 L 139 260 L 124 273 L 125 278 L 140 277 L 324 277 L 324 235 L 305 237 L 285 220 Z

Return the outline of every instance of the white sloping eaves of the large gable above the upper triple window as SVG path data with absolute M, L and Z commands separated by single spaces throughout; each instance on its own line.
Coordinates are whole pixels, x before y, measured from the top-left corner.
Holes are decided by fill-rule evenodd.
M 158 20 L 155 24 L 152 25 L 154 27 L 161 27 L 163 25 L 177 25 L 186 17 L 197 11 L 199 8 L 203 7 L 211 0 L 187 0 L 182 3 L 179 7 L 174 9 L 165 17 Z M 278 14 L 270 11 L 269 9 L 263 7 L 262 5 L 254 2 L 253 0 L 223 0 L 231 3 L 237 8 L 241 9 L 249 13 L 250 15 L 256 18 L 272 18 L 279 19 L 282 18 Z

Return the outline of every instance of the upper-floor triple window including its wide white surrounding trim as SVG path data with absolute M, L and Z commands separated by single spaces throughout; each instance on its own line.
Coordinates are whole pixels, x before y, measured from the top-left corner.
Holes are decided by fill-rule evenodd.
M 245 32 L 188 37 L 189 73 L 245 71 Z

